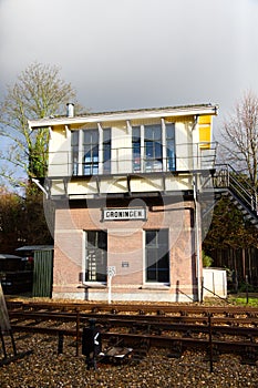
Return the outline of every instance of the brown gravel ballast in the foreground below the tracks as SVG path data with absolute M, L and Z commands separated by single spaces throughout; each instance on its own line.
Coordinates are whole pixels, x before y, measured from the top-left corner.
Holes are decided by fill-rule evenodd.
M 171 358 L 169 349 L 155 348 L 138 364 L 99 363 L 96 370 L 87 370 L 85 357 L 75 357 L 71 338 L 64 340 L 62 355 L 58 355 L 56 337 L 16 334 L 14 339 L 18 354 L 32 354 L 0 367 L 1 388 L 258 387 L 258 366 L 241 365 L 233 355 L 220 355 L 213 372 L 203 353 Z M 10 353 L 10 339 L 4 340 Z

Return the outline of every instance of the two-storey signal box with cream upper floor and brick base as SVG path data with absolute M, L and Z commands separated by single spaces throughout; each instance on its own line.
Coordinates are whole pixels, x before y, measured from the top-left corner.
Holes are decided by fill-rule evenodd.
M 68 104 L 66 116 L 29 122 L 50 132 L 54 298 L 199 299 L 216 114 L 200 104 L 75 116 Z

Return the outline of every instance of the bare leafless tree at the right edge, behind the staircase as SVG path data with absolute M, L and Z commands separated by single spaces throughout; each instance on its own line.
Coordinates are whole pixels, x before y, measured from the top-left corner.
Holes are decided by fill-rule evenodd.
M 251 91 L 244 94 L 231 115 L 224 123 L 221 133 L 227 162 L 247 174 L 251 185 L 258 188 L 258 96 Z

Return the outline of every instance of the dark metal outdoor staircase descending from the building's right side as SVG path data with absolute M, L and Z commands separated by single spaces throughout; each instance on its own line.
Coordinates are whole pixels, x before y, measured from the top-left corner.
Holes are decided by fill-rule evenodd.
M 218 197 L 227 195 L 248 219 L 258 228 L 258 203 L 255 188 L 239 176 L 229 164 L 216 166 L 213 176 L 214 191 Z

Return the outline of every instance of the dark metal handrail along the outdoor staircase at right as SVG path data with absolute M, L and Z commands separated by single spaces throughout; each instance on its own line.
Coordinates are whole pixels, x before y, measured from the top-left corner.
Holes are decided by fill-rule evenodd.
M 229 164 L 216 166 L 214 187 L 227 187 L 245 207 L 258 216 L 256 190 L 247 182 L 247 180 L 239 180 L 239 173 Z

